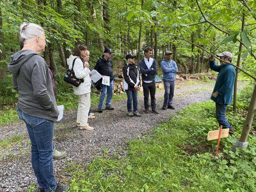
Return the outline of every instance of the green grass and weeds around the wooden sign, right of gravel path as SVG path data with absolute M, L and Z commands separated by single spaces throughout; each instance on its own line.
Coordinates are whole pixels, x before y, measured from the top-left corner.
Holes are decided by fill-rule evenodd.
M 239 94 L 239 114 L 231 106 L 227 118 L 239 135 L 252 88 Z M 212 101 L 193 104 L 152 136 L 129 142 L 127 156 L 96 158 L 86 169 L 73 164 L 70 192 L 254 192 L 256 191 L 256 136 L 249 146 L 232 152 L 233 137 L 223 138 L 220 155 L 212 155 L 217 141 L 207 132 L 218 129 Z M 256 120 L 254 120 L 254 125 Z

